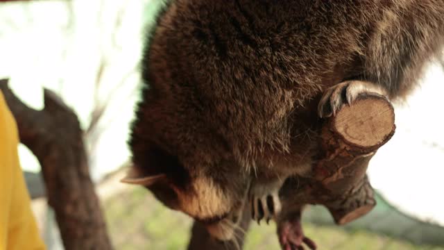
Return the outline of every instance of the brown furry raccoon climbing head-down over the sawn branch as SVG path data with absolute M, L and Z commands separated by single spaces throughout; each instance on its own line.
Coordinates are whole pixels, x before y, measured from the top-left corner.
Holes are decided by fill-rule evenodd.
M 250 201 L 310 176 L 322 117 L 359 94 L 402 99 L 441 56 L 443 0 L 172 0 L 146 37 L 122 181 L 230 240 Z

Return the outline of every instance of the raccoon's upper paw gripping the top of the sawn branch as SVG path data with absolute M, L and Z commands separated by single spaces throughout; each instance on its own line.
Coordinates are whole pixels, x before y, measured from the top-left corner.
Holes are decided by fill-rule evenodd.
M 357 97 L 363 94 L 386 97 L 386 92 L 379 86 L 366 81 L 345 81 L 328 88 L 318 104 L 319 117 L 330 117 L 344 103 L 351 105 Z

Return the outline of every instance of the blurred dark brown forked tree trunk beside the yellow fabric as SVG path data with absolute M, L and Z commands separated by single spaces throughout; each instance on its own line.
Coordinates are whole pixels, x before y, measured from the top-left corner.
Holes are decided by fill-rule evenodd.
M 24 105 L 8 80 L 0 80 L 0 90 L 17 121 L 20 141 L 42 166 L 65 249 L 112 249 L 76 114 L 50 90 L 44 91 L 43 110 Z

